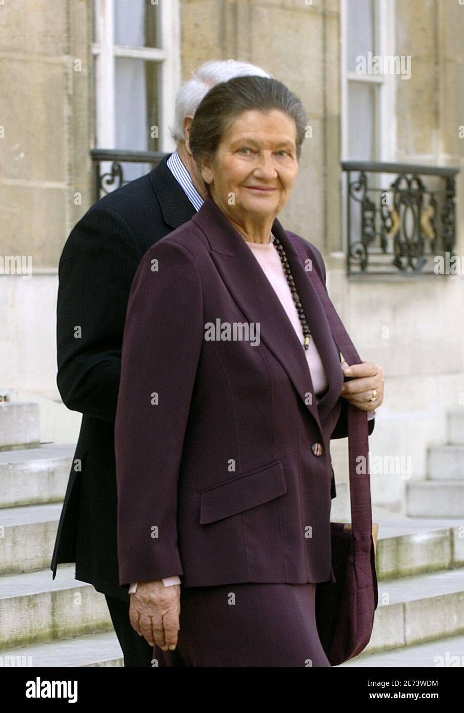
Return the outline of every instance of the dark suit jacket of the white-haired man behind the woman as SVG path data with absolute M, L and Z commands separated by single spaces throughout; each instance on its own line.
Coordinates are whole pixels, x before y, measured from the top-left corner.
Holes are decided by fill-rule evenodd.
M 83 418 L 51 570 L 55 578 L 58 563 L 75 562 L 78 580 L 123 600 L 129 595 L 128 585 L 119 585 L 114 421 L 125 312 L 145 252 L 195 215 L 167 158 L 86 212 L 58 272 L 57 384 L 63 403 Z M 332 438 L 347 435 L 344 406 Z

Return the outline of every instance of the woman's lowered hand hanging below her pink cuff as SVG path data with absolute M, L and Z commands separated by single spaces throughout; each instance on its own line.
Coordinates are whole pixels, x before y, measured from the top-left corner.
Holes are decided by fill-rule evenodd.
M 129 619 L 135 631 L 150 646 L 163 651 L 177 646 L 180 615 L 180 585 L 165 587 L 162 580 L 139 582 L 130 595 Z

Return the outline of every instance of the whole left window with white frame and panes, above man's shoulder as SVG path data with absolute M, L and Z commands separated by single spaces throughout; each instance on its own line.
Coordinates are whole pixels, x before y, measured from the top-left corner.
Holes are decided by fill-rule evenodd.
M 169 151 L 180 82 L 178 0 L 95 0 L 97 148 Z M 150 170 L 125 166 L 125 180 Z

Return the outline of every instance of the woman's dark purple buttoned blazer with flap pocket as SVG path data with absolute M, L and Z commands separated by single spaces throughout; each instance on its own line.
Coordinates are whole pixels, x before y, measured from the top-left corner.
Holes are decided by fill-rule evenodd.
M 321 254 L 278 220 L 272 232 L 328 389 L 316 405 L 277 294 L 208 198 L 149 248 L 130 290 L 115 419 L 120 585 L 176 574 L 186 587 L 332 578 L 330 439 L 347 435 L 344 376 L 294 245 L 324 282 Z M 205 339 L 218 319 L 259 323 L 259 344 Z

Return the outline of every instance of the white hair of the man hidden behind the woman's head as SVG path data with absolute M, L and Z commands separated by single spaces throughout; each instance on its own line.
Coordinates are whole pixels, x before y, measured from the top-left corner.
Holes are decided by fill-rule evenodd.
M 212 59 L 192 72 L 192 78 L 182 83 L 175 97 L 175 124 L 170 126 L 170 133 L 175 142 L 185 140 L 184 116 L 189 114 L 194 116 L 200 101 L 215 84 L 250 74 L 272 78 L 272 75 L 264 69 L 234 59 Z

